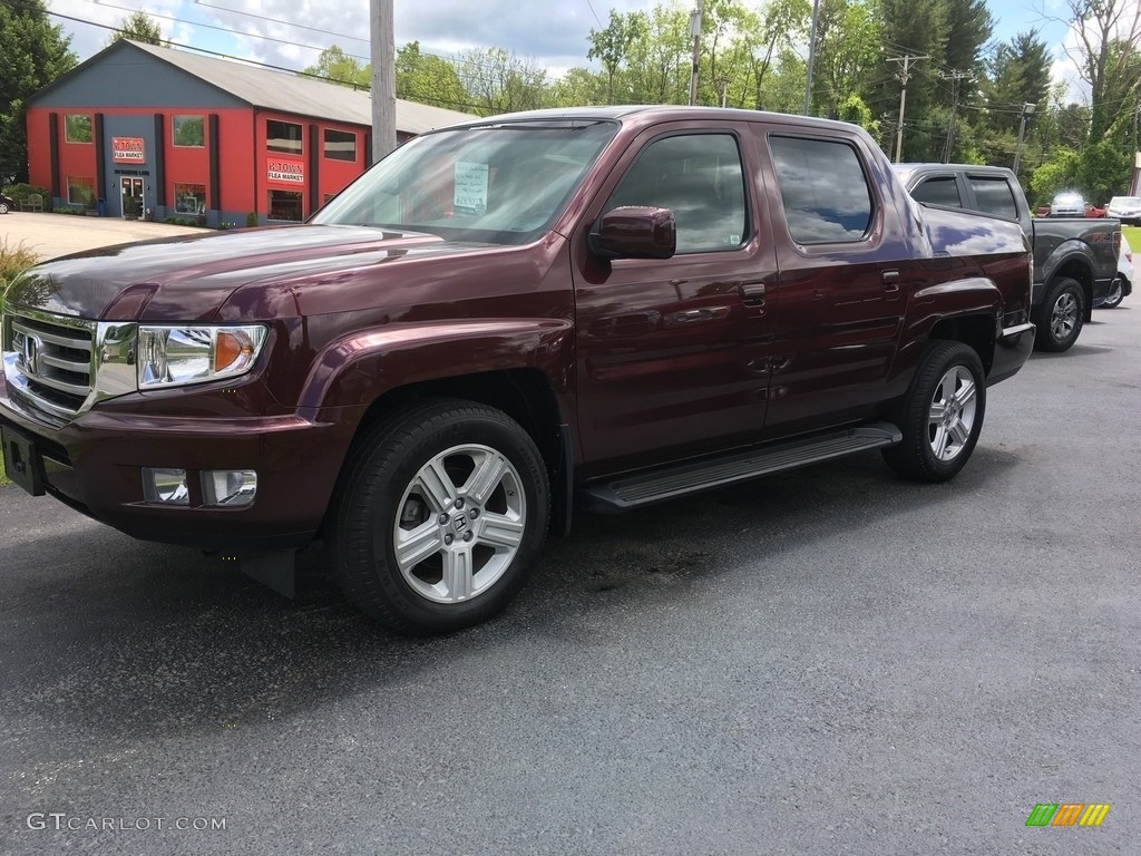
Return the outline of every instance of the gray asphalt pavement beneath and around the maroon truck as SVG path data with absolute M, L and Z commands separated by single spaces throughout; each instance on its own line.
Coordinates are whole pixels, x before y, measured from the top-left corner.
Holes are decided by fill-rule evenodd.
M 580 517 L 440 639 L 0 487 L 0 853 L 1141 853 L 1139 350 L 1095 312 L 945 485 Z

